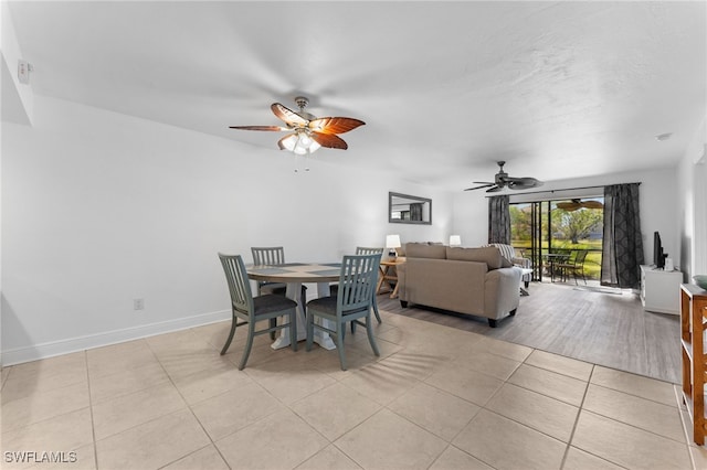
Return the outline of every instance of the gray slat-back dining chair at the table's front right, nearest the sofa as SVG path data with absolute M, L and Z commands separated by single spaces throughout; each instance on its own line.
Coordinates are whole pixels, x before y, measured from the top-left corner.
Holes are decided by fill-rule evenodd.
M 380 257 L 380 254 L 344 256 L 337 295 L 321 297 L 307 303 L 307 351 L 312 350 L 315 329 L 336 335 L 336 348 L 339 351 L 342 371 L 347 368 L 344 334 L 348 322 L 366 327 L 373 354 L 380 355 L 371 325 L 373 291 L 376 290 Z M 329 320 L 333 329 L 316 323 L 315 318 L 317 317 Z M 366 322 L 361 323 L 361 319 Z

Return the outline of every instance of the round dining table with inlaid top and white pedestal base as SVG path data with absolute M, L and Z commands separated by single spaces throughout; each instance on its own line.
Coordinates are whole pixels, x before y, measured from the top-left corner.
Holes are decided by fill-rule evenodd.
M 327 297 L 330 295 L 330 282 L 339 280 L 341 263 L 284 263 L 279 265 L 247 265 L 245 267 L 247 277 L 251 280 L 263 280 L 267 282 L 285 284 L 285 296 L 297 302 L 297 341 L 307 338 L 305 323 L 305 306 L 300 305 L 300 291 L 304 284 L 316 284 L 317 296 Z M 320 320 L 328 322 L 328 320 Z M 327 327 L 327 324 L 324 324 Z M 329 325 L 328 328 L 331 328 Z M 326 350 L 336 349 L 336 344 L 328 333 L 315 330 L 314 342 Z M 284 328 L 281 334 L 271 345 L 274 350 L 289 345 L 289 329 Z

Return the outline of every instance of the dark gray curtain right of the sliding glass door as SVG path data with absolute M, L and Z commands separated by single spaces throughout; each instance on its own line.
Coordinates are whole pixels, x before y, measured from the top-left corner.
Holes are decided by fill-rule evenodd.
M 641 237 L 640 183 L 604 188 L 604 239 L 601 259 L 601 284 L 620 288 L 637 288 L 643 264 Z

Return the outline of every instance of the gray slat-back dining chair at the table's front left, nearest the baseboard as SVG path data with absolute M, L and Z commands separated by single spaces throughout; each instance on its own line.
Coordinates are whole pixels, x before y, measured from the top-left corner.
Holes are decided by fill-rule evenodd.
M 235 335 L 235 328 L 245 324 L 247 324 L 247 339 L 239 365 L 240 371 L 245 367 L 247 357 L 251 354 L 253 339 L 260 334 L 274 333 L 283 328 L 289 327 L 289 342 L 292 349 L 297 351 L 297 302 L 285 296 L 275 293 L 253 297 L 251 282 L 241 255 L 224 255 L 219 253 L 219 259 L 221 259 L 221 265 L 223 266 L 225 279 L 229 285 L 231 312 L 233 314 L 231 332 L 221 350 L 221 355 L 225 354 L 229 350 L 231 341 Z M 288 317 L 289 321 L 287 323 L 283 321 L 277 325 L 277 317 Z M 239 322 L 239 320 L 242 321 Z M 268 320 L 268 328 L 256 330 L 256 323 L 262 320 Z

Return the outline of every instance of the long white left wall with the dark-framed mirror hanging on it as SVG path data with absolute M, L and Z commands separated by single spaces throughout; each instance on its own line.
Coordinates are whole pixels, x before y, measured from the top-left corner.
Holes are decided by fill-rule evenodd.
M 388 233 L 449 236 L 443 191 L 34 99 L 34 126 L 2 122 L 6 364 L 229 318 L 219 250 L 324 261 Z M 389 224 L 388 191 L 431 197 L 433 225 Z

